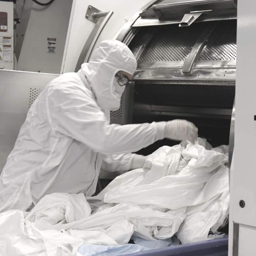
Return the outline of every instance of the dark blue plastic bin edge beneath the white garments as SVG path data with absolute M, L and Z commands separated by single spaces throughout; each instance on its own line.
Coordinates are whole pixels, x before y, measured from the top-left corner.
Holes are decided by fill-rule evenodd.
M 229 237 L 143 251 L 127 256 L 228 256 Z

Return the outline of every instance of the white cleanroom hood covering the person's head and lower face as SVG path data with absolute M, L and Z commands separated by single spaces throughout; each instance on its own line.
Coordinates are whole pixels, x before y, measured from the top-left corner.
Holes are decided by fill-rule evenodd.
M 118 71 L 133 75 L 137 62 L 130 49 L 117 40 L 99 43 L 89 63 L 82 65 L 96 102 L 101 109 L 118 110 L 125 89 L 115 78 Z

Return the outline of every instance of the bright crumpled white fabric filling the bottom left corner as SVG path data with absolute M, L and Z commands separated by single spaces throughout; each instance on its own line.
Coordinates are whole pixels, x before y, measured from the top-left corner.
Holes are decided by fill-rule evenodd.
M 101 231 L 39 230 L 25 221 L 26 212 L 9 210 L 0 214 L 1 256 L 75 256 L 82 245 L 117 246 Z M 94 255 L 94 254 L 88 254 Z

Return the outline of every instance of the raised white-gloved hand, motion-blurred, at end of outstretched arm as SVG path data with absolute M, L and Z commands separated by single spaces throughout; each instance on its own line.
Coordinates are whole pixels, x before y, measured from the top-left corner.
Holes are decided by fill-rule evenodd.
M 186 139 L 194 144 L 197 140 L 197 127 L 187 120 L 168 121 L 165 125 L 165 137 L 173 140 Z

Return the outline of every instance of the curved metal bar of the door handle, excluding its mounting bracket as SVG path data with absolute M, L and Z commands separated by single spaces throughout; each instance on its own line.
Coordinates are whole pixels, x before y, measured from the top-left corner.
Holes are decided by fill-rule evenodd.
M 75 72 L 77 72 L 81 68 L 81 65 L 83 63 L 89 61 L 91 57 L 91 53 L 98 40 L 98 37 L 100 36 L 102 30 L 104 29 L 105 25 L 109 21 L 112 14 L 113 14 L 113 11 L 109 11 L 107 12 L 106 16 L 102 16 L 101 18 L 98 18 L 98 21 L 94 26 L 94 29 L 91 31 L 91 34 L 89 35 L 87 41 L 85 42 L 85 46 L 83 47 L 82 52 L 80 53 L 78 63 L 75 67 Z

